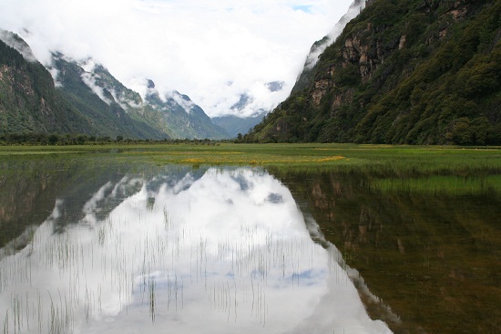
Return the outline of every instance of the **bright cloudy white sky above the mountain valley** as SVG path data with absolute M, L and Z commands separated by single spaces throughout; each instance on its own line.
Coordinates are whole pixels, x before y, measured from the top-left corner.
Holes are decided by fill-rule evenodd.
M 151 79 L 210 117 L 251 116 L 289 96 L 312 43 L 352 2 L 2 0 L 0 28 L 23 37 L 44 64 L 51 51 L 93 57 L 142 95 Z M 242 95 L 250 97 L 247 107 L 232 109 Z

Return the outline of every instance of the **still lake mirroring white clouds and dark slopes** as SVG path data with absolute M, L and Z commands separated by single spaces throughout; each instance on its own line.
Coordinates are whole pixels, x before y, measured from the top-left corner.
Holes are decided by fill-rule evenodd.
M 496 332 L 498 180 L 9 158 L 0 329 Z

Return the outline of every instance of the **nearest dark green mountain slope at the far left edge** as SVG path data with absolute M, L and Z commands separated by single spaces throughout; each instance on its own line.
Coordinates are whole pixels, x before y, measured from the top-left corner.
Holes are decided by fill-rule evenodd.
M 0 133 L 91 134 L 93 130 L 87 118 L 62 97 L 26 43 L 0 31 Z

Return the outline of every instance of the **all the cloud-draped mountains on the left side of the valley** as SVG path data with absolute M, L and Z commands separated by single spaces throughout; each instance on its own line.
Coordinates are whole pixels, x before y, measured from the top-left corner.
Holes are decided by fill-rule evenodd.
M 145 100 L 92 58 L 54 53 L 44 68 L 29 46 L 0 31 L 0 134 L 84 133 L 132 139 L 224 139 L 230 135 L 189 97 L 160 96 L 152 81 Z M 145 80 L 146 82 L 146 80 Z

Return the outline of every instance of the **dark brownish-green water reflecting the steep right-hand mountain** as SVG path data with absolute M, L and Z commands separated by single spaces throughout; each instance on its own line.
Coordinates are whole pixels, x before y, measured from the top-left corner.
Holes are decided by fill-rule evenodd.
M 399 316 L 394 321 L 377 303 L 366 303 L 373 318 L 397 333 L 498 333 L 498 177 L 351 171 L 282 172 L 280 178 L 347 264 Z M 389 183 L 398 185 L 381 186 Z

